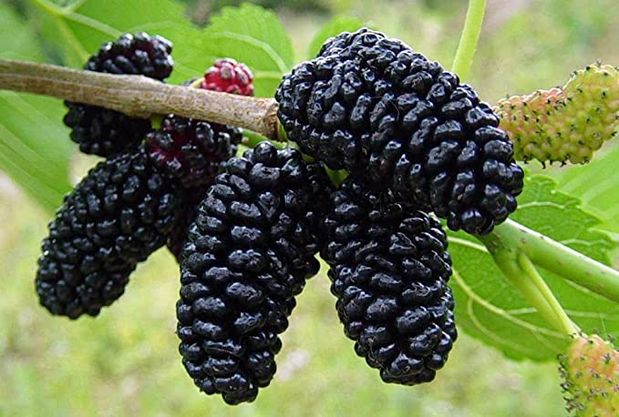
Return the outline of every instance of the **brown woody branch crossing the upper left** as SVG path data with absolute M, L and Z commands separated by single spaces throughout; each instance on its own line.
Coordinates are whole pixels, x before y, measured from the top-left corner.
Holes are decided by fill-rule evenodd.
M 170 86 L 146 76 L 116 76 L 9 59 L 0 59 L 0 89 L 111 108 L 133 117 L 175 114 L 279 138 L 273 98 L 235 96 Z

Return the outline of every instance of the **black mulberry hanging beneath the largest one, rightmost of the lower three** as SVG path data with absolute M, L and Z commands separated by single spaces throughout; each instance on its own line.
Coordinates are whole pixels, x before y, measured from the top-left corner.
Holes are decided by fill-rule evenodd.
M 331 203 L 321 255 L 346 336 L 383 381 L 432 381 L 458 336 L 444 230 L 358 178 L 347 178 Z

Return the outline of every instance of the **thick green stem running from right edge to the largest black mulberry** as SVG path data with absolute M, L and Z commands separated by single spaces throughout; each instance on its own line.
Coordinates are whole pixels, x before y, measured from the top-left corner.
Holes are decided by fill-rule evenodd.
M 544 270 L 592 290 L 608 300 L 619 302 L 619 271 L 515 221 L 507 220 L 494 228 L 490 235 L 479 239 L 492 254 L 502 250 L 524 253 Z

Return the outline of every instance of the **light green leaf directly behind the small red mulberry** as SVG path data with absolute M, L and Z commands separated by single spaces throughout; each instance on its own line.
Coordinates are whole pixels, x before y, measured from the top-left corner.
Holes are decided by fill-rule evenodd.
M 193 40 L 192 47 L 211 60 L 232 57 L 247 64 L 253 71 L 255 94 L 259 97 L 273 97 L 294 62 L 290 37 L 277 15 L 256 5 L 224 7 Z

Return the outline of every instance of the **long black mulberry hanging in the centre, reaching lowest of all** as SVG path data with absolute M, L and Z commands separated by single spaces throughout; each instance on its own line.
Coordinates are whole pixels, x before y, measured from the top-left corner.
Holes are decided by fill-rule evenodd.
M 323 168 L 268 143 L 215 178 L 183 250 L 177 304 L 185 369 L 207 394 L 251 402 L 267 386 L 294 295 L 317 273 Z

